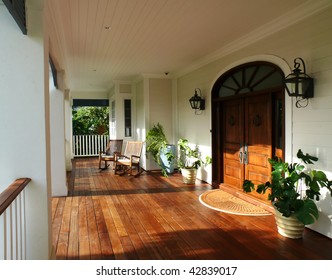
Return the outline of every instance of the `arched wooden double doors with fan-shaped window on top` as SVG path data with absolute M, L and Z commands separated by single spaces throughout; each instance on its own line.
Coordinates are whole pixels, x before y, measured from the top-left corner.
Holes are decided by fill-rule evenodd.
M 214 185 L 242 191 L 245 179 L 264 183 L 271 172 L 268 159 L 284 157 L 283 78 L 278 66 L 256 61 L 232 68 L 213 85 Z

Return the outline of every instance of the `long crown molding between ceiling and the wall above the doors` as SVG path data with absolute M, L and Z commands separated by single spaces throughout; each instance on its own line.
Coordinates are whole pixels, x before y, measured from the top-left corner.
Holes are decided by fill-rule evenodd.
M 198 60 L 196 63 L 185 67 L 176 73 L 175 77 L 181 77 L 192 71 L 195 71 L 211 62 L 214 62 L 222 57 L 225 57 L 231 53 L 234 53 L 246 46 L 249 46 L 265 37 L 268 37 L 280 30 L 283 30 L 289 26 L 296 24 L 297 22 L 304 20 L 322 10 L 325 10 L 332 6 L 331 0 L 309 0 L 300 5 L 298 8 L 285 13 L 271 22 L 257 28 L 256 30 L 248 33 L 247 35 L 225 45 L 216 52 L 213 52 L 204 58 Z

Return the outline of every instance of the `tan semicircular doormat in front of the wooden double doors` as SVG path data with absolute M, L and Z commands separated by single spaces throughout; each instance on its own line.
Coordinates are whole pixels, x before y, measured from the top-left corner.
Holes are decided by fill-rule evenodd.
M 216 189 L 202 193 L 199 201 L 211 209 L 235 215 L 264 216 L 271 215 L 263 208 L 251 204 L 241 198 Z

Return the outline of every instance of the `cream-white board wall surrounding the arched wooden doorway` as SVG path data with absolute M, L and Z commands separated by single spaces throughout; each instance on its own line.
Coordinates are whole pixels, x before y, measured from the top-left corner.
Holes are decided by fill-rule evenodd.
M 285 75 L 293 68 L 294 58 L 300 56 L 307 66 L 307 73 L 315 79 L 315 97 L 308 107 L 295 108 L 286 97 L 286 159 L 295 157 L 298 148 L 319 157 L 318 167 L 332 179 L 332 9 L 298 22 L 241 50 L 225 55 L 214 62 L 183 75 L 177 81 L 179 137 L 204 148 L 211 146 L 211 88 L 214 81 L 243 61 L 269 55 L 284 65 Z M 206 98 L 206 110 L 194 115 L 188 100 L 199 87 Z M 208 148 L 207 148 L 208 149 Z M 208 174 L 205 174 L 208 175 Z M 204 177 L 202 177 L 205 179 Z M 325 197 L 325 195 L 323 195 Z M 312 228 L 332 237 L 332 203 L 326 198 L 319 203 L 321 219 Z

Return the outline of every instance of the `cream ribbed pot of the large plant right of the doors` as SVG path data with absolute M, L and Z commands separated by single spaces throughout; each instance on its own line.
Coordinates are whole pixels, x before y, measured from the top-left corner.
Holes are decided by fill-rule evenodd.
M 292 239 L 303 237 L 304 224 L 296 217 L 284 217 L 276 208 L 274 208 L 274 212 L 279 234 Z

